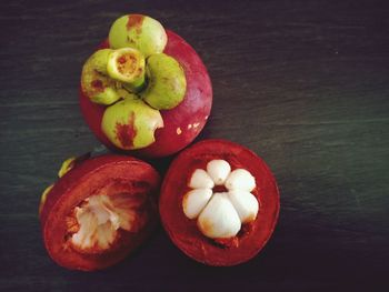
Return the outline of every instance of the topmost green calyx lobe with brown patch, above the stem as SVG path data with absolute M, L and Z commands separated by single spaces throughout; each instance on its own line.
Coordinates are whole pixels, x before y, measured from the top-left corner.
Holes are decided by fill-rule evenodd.
M 162 24 L 141 14 L 128 14 L 117 19 L 108 39 L 112 49 L 134 48 L 144 57 L 162 52 L 168 41 Z

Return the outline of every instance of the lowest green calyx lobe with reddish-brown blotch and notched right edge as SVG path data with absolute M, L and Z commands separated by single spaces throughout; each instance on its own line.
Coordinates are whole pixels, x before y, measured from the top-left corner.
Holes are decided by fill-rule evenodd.
M 107 108 L 101 121 L 102 132 L 116 147 L 123 150 L 150 145 L 156 141 L 154 131 L 162 127 L 160 112 L 130 93 Z

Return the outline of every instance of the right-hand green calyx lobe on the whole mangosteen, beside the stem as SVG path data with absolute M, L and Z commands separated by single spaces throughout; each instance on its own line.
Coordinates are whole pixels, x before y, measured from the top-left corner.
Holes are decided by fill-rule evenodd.
M 158 110 L 176 108 L 187 89 L 183 69 L 164 53 L 152 54 L 147 60 L 148 87 L 141 92 L 142 99 Z

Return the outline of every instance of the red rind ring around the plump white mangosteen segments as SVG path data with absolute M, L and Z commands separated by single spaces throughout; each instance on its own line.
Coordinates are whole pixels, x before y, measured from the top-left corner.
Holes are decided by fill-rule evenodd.
M 256 178 L 257 187 L 251 193 L 259 201 L 259 212 L 252 223 L 243 225 L 250 231 L 235 238 L 238 246 L 218 246 L 182 211 L 191 174 L 198 168 L 206 169 L 212 159 L 227 160 L 232 170 L 243 168 Z M 279 207 L 277 183 L 266 163 L 249 149 L 225 140 L 205 140 L 182 151 L 164 177 L 159 200 L 161 221 L 172 242 L 196 261 L 223 266 L 243 263 L 263 248 L 276 226 Z

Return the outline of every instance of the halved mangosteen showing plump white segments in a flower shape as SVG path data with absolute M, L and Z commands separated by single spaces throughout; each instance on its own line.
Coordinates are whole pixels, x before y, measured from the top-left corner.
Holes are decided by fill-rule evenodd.
M 209 265 L 236 265 L 253 258 L 271 236 L 279 191 L 256 153 L 229 141 L 205 140 L 173 160 L 159 211 L 183 253 Z

